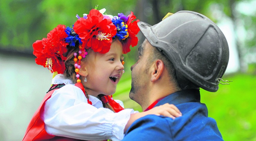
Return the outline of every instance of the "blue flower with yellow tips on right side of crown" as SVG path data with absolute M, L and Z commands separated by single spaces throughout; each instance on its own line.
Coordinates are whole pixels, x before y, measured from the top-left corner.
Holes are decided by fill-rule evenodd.
M 117 27 L 117 34 L 114 36 L 118 38 L 118 40 L 124 40 L 127 35 L 127 25 L 124 25 L 123 20 L 120 18 L 112 19 L 113 24 Z

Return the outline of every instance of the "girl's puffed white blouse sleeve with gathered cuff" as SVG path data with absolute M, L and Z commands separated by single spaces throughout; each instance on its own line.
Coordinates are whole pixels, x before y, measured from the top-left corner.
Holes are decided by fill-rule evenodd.
M 118 141 L 123 139 L 123 130 L 132 113 L 135 113 L 133 109 L 114 113 L 107 108 L 96 108 L 87 103 L 78 87 L 69 84 L 54 91 L 45 102 L 41 118 L 50 135 Z

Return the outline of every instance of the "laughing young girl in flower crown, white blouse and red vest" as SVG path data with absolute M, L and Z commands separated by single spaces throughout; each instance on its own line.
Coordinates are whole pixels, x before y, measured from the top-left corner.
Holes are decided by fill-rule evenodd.
M 114 94 L 123 73 L 123 53 L 136 46 L 136 17 L 90 10 L 69 28 L 58 25 L 33 44 L 35 62 L 57 72 L 23 140 L 122 140 L 136 119 L 181 116 L 170 104 L 138 113 L 123 109 Z M 104 108 L 108 107 L 108 108 Z M 110 110 L 111 109 L 111 110 Z M 116 113 L 115 113 L 116 112 Z

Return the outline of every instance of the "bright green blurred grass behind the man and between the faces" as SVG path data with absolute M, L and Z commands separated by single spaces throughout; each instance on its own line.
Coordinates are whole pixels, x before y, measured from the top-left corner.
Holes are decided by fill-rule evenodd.
M 201 89 L 201 102 L 209 110 L 209 117 L 216 120 L 224 140 L 256 141 L 256 65 L 249 66 L 248 73 L 225 75 L 230 85 L 219 85 L 215 93 Z M 114 99 L 122 100 L 125 108 L 142 111 L 139 104 L 130 100 L 131 74 L 126 71 L 117 85 Z

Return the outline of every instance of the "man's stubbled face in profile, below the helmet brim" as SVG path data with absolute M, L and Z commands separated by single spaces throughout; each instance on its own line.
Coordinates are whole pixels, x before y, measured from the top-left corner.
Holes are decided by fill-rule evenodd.
M 139 60 L 131 66 L 132 88 L 130 90 L 129 97 L 140 105 L 143 103 L 143 100 L 145 100 L 144 95 L 147 93 L 148 83 L 150 81 L 150 74 L 148 73 L 148 59 L 151 51 L 150 47 L 150 43 L 145 39 L 142 45 L 138 48 Z

